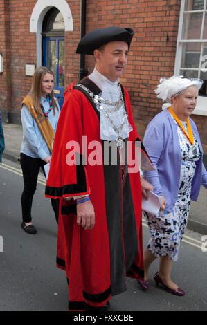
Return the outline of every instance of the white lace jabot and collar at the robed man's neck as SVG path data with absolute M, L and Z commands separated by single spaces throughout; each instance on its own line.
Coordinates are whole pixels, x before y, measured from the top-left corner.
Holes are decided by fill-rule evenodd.
M 116 102 L 120 97 L 120 88 L 118 86 L 118 81 L 111 82 L 104 75 L 101 75 L 96 68 L 94 68 L 93 73 L 89 75 L 89 79 L 94 82 L 98 88 L 102 90 L 100 97 L 104 100 L 109 100 L 110 102 Z M 103 108 L 107 108 L 107 104 L 102 104 Z M 114 128 L 111 126 L 111 123 L 106 118 L 104 109 L 100 110 L 97 106 L 98 111 L 100 111 L 100 138 L 102 140 L 116 141 L 118 136 L 121 136 L 123 139 L 129 137 L 129 132 L 132 131 L 132 126 L 129 124 L 128 119 L 125 118 L 125 123 L 120 133 L 118 134 L 114 131 Z M 123 124 L 123 119 L 125 117 L 125 108 L 121 106 L 117 111 L 110 113 L 110 119 L 114 122 L 114 125 L 117 128 L 120 128 L 120 125 Z

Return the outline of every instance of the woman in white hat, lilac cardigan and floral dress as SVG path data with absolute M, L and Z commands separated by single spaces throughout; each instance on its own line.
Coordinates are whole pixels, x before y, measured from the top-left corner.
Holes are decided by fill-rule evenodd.
M 185 294 L 172 282 L 170 273 L 188 223 L 190 200 L 197 201 L 201 184 L 207 188 L 201 141 L 190 119 L 201 85 L 201 80 L 173 76 L 162 79 L 155 91 L 171 107 L 148 124 L 143 140 L 156 168 L 146 171 L 144 176 L 153 185 L 154 193 L 161 196 L 159 214 L 145 212 L 151 238 L 144 252 L 145 281 L 139 281 L 143 289 L 149 286 L 150 264 L 159 257 L 159 272 L 154 275 L 156 285 L 162 284 L 174 295 Z

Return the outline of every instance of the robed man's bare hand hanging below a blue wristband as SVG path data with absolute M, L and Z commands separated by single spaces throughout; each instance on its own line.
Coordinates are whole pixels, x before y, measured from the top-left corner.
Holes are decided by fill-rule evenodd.
M 77 223 L 85 230 L 95 225 L 95 212 L 91 200 L 77 204 Z

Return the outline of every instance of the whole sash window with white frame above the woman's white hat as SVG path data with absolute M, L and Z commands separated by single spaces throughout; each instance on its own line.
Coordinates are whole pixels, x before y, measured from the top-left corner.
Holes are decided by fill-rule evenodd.
M 197 109 L 207 115 L 207 0 L 181 0 L 175 74 L 204 80 Z

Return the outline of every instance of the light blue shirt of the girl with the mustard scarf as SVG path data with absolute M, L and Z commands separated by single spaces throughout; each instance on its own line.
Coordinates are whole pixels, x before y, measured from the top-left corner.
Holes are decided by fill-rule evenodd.
M 57 102 L 57 100 L 56 100 Z M 45 111 L 50 108 L 50 103 L 48 97 L 41 97 L 41 103 L 44 106 Z M 58 104 L 58 102 L 57 102 Z M 55 108 L 55 115 L 53 115 L 53 110 L 48 114 L 48 120 L 51 123 L 51 127 L 56 131 L 57 120 L 60 115 L 60 110 L 57 111 Z M 21 144 L 21 152 L 30 156 L 32 158 L 40 158 L 44 160 L 46 156 L 51 156 L 51 153 L 46 145 L 44 137 L 37 123 L 33 119 L 27 106 L 24 104 L 21 109 L 21 123 L 23 128 L 23 141 Z

